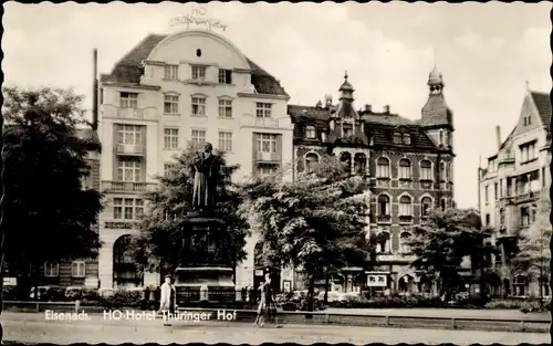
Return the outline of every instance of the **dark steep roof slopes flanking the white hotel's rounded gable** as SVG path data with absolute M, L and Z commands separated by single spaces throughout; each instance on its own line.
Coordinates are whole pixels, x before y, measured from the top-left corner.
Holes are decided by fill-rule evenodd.
M 149 34 L 146 36 L 115 64 L 111 74 L 103 74 L 101 81 L 138 85 L 143 74 L 142 62 L 148 57 L 154 48 L 165 38 L 167 35 Z M 247 57 L 247 61 L 252 70 L 251 82 L 259 94 L 289 96 L 274 76 L 250 59 Z

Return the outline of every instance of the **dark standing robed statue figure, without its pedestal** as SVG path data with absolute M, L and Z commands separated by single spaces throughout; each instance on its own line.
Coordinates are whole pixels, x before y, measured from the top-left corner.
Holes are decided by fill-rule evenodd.
M 206 143 L 204 151 L 198 153 L 194 160 L 194 195 L 192 208 L 199 211 L 212 211 L 217 199 L 217 181 L 219 167 L 213 147 Z

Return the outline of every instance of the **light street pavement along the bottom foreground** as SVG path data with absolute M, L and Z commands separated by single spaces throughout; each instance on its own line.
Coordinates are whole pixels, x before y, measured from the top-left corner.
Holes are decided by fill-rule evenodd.
M 383 327 L 351 327 L 320 325 L 284 325 L 282 328 L 268 326 L 254 328 L 240 322 L 175 322 L 163 326 L 156 321 L 106 321 L 103 316 L 88 316 L 88 321 L 45 321 L 45 314 L 6 313 L 1 321 L 4 339 L 23 343 L 230 343 L 261 344 L 298 343 L 312 344 L 352 343 L 500 343 L 517 345 L 521 343 L 550 344 L 549 334 L 502 333 L 474 331 L 399 329 Z

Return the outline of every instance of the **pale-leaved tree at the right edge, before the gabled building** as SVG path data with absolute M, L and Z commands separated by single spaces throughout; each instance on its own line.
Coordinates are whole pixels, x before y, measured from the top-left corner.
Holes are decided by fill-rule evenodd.
M 544 189 L 538 202 L 536 217 L 526 232 L 520 234 L 519 251 L 511 260 L 514 272 L 524 273 L 529 280 L 540 284 L 540 298 L 543 298 L 542 283 L 549 282 L 551 272 L 551 200 L 549 188 Z

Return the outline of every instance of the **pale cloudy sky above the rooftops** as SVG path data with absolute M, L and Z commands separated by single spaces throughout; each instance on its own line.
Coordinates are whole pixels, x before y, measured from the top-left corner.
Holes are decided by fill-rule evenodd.
M 337 99 L 347 71 L 356 107 L 390 106 L 420 117 L 428 74 L 436 64 L 455 116 L 455 199 L 478 207 L 477 168 L 497 150 L 520 115 L 526 81 L 551 91 L 551 3 L 253 3 L 211 2 L 220 34 L 273 74 L 290 104 Z M 149 33 L 167 34 L 171 18 L 190 3 L 3 3 L 2 71 L 6 84 L 74 87 L 92 108 L 92 51 L 98 72 Z M 182 30 L 184 28 L 177 28 Z M 216 29 L 213 29 L 216 30 Z

